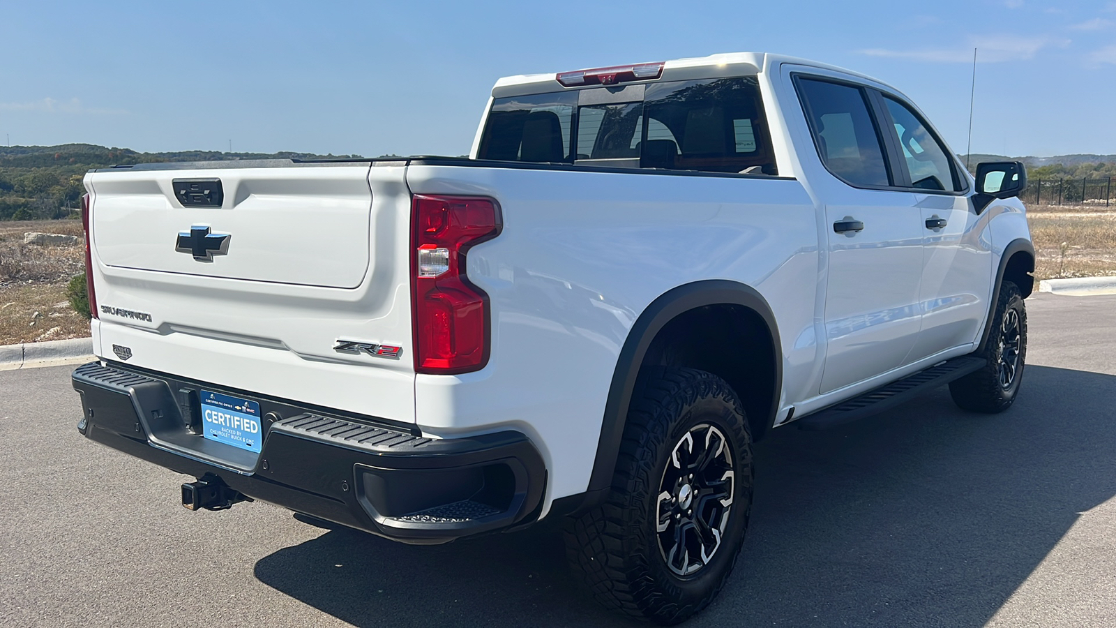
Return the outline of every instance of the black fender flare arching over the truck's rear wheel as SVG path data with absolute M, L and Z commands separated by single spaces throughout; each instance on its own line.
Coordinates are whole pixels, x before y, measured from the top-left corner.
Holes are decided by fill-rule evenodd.
M 771 396 L 769 420 L 775 419 L 782 392 L 782 345 L 779 342 L 779 327 L 776 324 L 771 306 L 756 288 L 728 279 L 706 279 L 683 284 L 662 294 L 651 302 L 632 329 L 620 350 L 613 373 L 608 400 L 605 403 L 604 421 L 600 426 L 600 438 L 597 440 L 597 456 L 589 477 L 589 487 L 585 505 L 597 503 L 612 486 L 613 474 L 616 472 L 616 458 L 619 454 L 620 440 L 624 437 L 624 424 L 627 420 L 628 405 L 635 389 L 639 367 L 643 364 L 647 348 L 658 332 L 675 316 L 705 305 L 732 304 L 747 307 L 763 320 L 771 335 L 772 355 L 775 356 L 775 390 Z

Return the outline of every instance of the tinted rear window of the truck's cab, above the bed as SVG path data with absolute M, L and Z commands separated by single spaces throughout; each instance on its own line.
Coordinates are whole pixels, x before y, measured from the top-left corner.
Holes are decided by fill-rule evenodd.
M 478 156 L 778 173 L 754 77 L 648 84 L 643 101 L 606 105 L 578 106 L 579 92 L 496 99 Z

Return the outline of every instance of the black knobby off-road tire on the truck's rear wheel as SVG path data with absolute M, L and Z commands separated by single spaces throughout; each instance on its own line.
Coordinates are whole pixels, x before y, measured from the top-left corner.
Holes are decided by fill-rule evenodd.
M 708 562 L 704 556 L 699 559 L 702 567 L 696 572 L 683 577 L 672 571 L 665 549 L 661 550 L 662 531 L 656 530 L 663 525 L 661 508 L 677 502 L 664 502 L 660 488 L 667 482 L 668 470 L 679 473 L 667 469 L 677 446 L 686 435 L 701 430 L 705 430 L 706 443 L 723 435 L 729 454 L 718 454 L 719 464 L 731 458 L 734 476 L 729 510 L 718 518 L 724 529 L 718 537 L 720 544 L 713 546 Z M 693 446 L 690 451 L 695 451 Z M 699 464 L 701 454 L 691 455 Z M 706 463 L 706 468 L 711 464 Z M 566 521 L 567 556 L 604 606 L 657 624 L 677 624 L 705 608 L 724 586 L 740 553 L 751 502 L 751 435 L 737 393 L 724 380 L 704 371 L 645 369 L 633 394 L 612 488 L 603 505 Z M 719 507 L 709 497 L 696 503 L 693 510 L 699 512 L 703 512 L 702 503 Z M 687 559 L 689 552 L 682 570 Z M 694 569 L 692 564 L 690 569 Z

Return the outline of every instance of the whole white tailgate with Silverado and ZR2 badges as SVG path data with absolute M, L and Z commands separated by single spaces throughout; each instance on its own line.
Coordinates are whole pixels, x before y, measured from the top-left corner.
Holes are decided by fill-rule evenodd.
M 412 422 L 405 171 L 287 162 L 92 172 L 95 352 Z M 184 204 L 175 197 L 184 180 L 220 180 L 223 199 Z M 338 341 L 401 351 L 337 350 Z

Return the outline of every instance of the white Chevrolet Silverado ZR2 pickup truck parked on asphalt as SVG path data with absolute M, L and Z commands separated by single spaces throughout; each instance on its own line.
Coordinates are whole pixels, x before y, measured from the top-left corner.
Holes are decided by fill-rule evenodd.
M 465 158 L 90 172 L 81 434 L 406 543 L 565 522 L 604 603 L 701 610 L 752 443 L 1014 400 L 1020 163 L 766 54 L 502 78 Z

